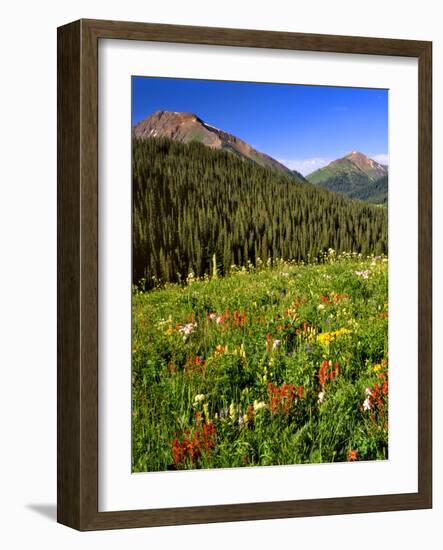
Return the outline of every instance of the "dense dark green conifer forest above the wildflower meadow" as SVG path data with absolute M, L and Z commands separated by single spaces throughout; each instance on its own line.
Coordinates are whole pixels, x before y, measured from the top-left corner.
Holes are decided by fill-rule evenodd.
M 232 153 L 169 139 L 133 142 L 133 282 L 220 274 L 257 258 L 328 248 L 387 253 L 387 212 Z

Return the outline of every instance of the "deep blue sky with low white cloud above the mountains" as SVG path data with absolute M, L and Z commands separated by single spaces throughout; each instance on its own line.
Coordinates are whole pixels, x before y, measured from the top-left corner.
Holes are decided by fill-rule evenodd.
M 132 123 L 191 111 L 308 174 L 350 151 L 388 163 L 388 91 L 173 78 L 132 78 Z

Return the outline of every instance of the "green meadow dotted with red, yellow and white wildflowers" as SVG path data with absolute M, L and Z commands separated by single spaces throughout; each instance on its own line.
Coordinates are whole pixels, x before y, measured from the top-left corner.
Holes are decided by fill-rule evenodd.
M 385 458 L 387 396 L 362 404 L 386 358 L 385 260 L 332 255 L 135 293 L 133 469 Z M 319 403 L 329 360 L 338 374 Z M 180 448 L 200 436 L 201 452 L 174 463 L 174 436 Z

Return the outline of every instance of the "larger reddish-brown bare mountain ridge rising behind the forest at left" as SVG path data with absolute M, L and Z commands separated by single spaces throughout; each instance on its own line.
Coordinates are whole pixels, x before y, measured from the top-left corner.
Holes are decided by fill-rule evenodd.
M 305 181 L 298 172 L 257 151 L 242 139 L 207 124 L 194 113 L 157 111 L 134 127 L 134 136 L 139 139 L 169 138 L 180 143 L 196 141 L 211 149 L 229 151 L 265 168 L 272 168 L 297 181 Z

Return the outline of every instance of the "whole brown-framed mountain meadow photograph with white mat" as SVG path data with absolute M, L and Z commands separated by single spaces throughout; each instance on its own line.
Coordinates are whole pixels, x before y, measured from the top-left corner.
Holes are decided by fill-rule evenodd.
M 430 42 L 58 29 L 58 521 L 432 506 Z

